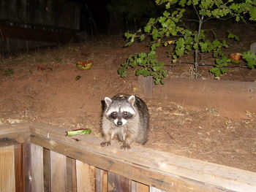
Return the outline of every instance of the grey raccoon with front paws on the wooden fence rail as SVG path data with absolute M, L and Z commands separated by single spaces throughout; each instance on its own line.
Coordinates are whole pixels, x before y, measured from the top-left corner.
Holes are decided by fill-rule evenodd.
M 146 103 L 133 95 L 118 94 L 112 99 L 105 97 L 105 109 L 102 113 L 102 134 L 110 145 L 115 135 L 123 142 L 121 149 L 129 149 L 132 142 L 145 144 L 148 139 L 148 107 Z

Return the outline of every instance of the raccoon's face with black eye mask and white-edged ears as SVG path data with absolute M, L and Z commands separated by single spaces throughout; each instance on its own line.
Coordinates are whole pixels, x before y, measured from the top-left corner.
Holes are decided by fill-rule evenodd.
M 134 110 L 135 96 L 129 96 L 126 100 L 114 100 L 105 97 L 107 109 L 105 116 L 113 120 L 116 126 L 124 126 L 129 119 L 134 118 L 136 111 Z

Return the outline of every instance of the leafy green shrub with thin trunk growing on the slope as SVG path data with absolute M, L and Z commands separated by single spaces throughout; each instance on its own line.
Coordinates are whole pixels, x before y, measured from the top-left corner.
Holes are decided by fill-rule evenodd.
M 143 41 L 146 37 L 151 39 L 148 53 L 138 53 L 129 56 L 127 61 L 121 64 L 118 74 L 126 77 L 129 67 L 138 67 L 136 75 L 151 75 L 154 77 L 155 84 L 164 83 L 166 77 L 165 65 L 157 59 L 157 48 L 160 46 L 170 47 L 168 56 L 170 63 L 176 63 L 178 58 L 184 54 L 194 53 L 194 72 L 197 77 L 198 67 L 200 66 L 200 55 L 212 53 L 216 59 L 210 72 L 219 76 L 227 72 L 230 59 L 222 52 L 227 48 L 226 39 L 217 39 L 214 31 L 203 29 L 203 23 L 208 20 L 235 18 L 236 21 L 245 20 L 245 15 L 249 15 L 249 20 L 256 21 L 256 1 L 245 0 L 156 0 L 157 5 L 165 4 L 165 11 L 159 18 L 150 18 L 146 26 L 138 30 L 135 34 L 127 32 L 125 37 L 128 42 L 126 46 L 132 45 L 136 40 Z M 189 16 L 186 18 L 187 15 Z M 184 24 L 184 21 L 196 22 L 197 29 L 193 30 Z M 214 34 L 214 39 L 208 38 L 209 34 Z M 230 32 L 227 39 L 239 38 Z M 255 55 L 243 53 L 244 60 L 249 68 L 255 67 Z

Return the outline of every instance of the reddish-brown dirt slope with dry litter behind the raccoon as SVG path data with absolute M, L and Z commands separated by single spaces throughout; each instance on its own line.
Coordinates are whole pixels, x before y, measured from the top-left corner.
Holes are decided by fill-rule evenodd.
M 249 49 L 253 41 L 256 37 L 242 35 L 230 52 Z M 225 118 L 211 109 L 192 111 L 171 100 L 146 98 L 133 70 L 125 79 L 116 72 L 128 55 L 146 50 L 145 44 L 123 45 L 120 37 L 100 37 L 1 58 L 0 69 L 13 69 L 14 74 L 0 74 L 0 123 L 40 121 L 67 130 L 92 128 L 100 137 L 102 99 L 116 93 L 135 94 L 146 101 L 151 115 L 145 147 L 256 172 L 254 114 L 246 119 Z M 191 62 L 192 55 L 182 59 Z M 76 69 L 78 61 L 87 60 L 94 62 L 91 69 Z M 191 67 L 167 66 L 165 81 L 169 77 L 191 78 Z M 78 75 L 80 80 L 75 80 Z M 215 79 L 207 66 L 201 67 L 200 78 Z M 232 68 L 221 79 L 255 81 L 256 71 Z

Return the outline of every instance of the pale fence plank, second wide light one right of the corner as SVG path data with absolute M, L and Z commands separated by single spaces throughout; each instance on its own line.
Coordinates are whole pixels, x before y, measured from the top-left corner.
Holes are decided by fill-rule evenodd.
M 50 151 L 50 188 L 52 192 L 67 190 L 67 157 Z

